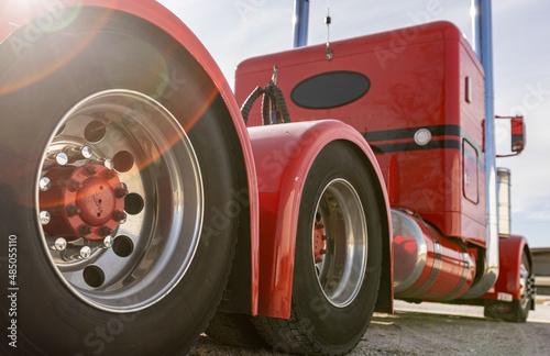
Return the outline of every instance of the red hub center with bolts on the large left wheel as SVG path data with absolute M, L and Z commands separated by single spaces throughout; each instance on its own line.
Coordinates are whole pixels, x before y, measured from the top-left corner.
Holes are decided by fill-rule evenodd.
M 52 220 L 44 230 L 52 236 L 102 240 L 125 219 L 128 194 L 117 173 L 102 165 L 59 167 L 47 173 L 52 188 L 41 192 L 41 210 Z

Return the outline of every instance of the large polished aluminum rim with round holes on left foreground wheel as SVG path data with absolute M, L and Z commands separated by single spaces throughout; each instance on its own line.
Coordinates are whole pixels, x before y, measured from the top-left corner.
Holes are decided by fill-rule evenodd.
M 86 234 L 95 229 L 100 238 L 67 236 L 63 223 L 63 229 L 48 227 L 56 218 L 45 197 L 66 185 L 58 173 L 79 167 L 105 170 L 97 178 L 101 190 L 102 177 L 116 176 L 109 180 L 113 203 L 121 207 L 123 199 L 123 211 L 112 212 L 109 220 L 112 229 L 79 230 Z M 88 304 L 110 312 L 147 308 L 165 297 L 189 267 L 202 224 L 202 180 L 185 131 L 156 100 L 108 90 L 76 104 L 45 147 L 36 186 L 45 251 L 59 279 Z M 81 188 L 75 186 L 74 190 Z M 68 216 L 80 212 L 74 210 Z

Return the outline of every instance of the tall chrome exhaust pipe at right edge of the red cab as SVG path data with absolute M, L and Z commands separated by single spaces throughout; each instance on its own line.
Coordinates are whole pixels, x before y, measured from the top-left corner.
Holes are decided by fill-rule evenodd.
M 487 246 L 483 276 L 462 298 L 477 298 L 498 278 L 498 204 L 496 191 L 495 96 L 493 81 L 493 19 L 491 0 L 472 0 L 474 46 L 485 71 L 485 176 L 487 188 Z

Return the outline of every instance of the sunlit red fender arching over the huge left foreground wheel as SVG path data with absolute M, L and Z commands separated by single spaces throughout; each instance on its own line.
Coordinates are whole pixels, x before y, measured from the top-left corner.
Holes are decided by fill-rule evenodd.
M 0 45 L 12 46 L 13 51 L 24 48 L 38 41 L 42 35 L 41 26 L 59 19 L 67 9 L 85 11 L 88 7 L 119 10 L 141 18 L 164 30 L 182 44 L 199 63 L 223 99 L 235 127 L 242 147 L 248 177 L 250 196 L 251 221 L 251 259 L 252 259 L 252 313 L 257 311 L 257 278 L 258 278 L 258 210 L 257 181 L 252 155 L 252 146 L 241 116 L 241 112 L 233 92 L 223 74 L 219 69 L 200 41 L 172 12 L 154 0 L 8 0 L 0 5 Z M 78 11 L 75 11 L 74 21 L 78 21 Z M 123 24 L 121 24 L 123 25 Z M 22 30 L 16 32 L 18 30 Z M 97 30 L 97 29 L 91 29 Z M 63 64 L 62 64 L 63 65 Z M 0 88 L 0 93 L 16 88 Z

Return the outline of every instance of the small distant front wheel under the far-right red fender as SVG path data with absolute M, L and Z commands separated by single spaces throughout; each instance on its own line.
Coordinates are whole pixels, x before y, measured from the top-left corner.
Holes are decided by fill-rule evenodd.
M 532 286 L 531 265 L 527 253 L 524 252 L 521 266 L 519 267 L 519 288 L 521 290 L 521 299 L 513 300 L 512 302 L 487 300 L 485 302 L 484 314 L 487 318 L 502 319 L 508 322 L 525 323 L 531 309 Z

